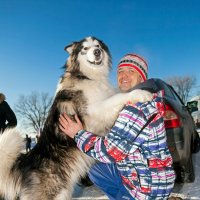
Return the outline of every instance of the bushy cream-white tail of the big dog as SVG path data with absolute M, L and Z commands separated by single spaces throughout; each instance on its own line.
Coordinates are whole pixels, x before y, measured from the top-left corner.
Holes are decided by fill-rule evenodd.
M 11 169 L 24 148 L 17 129 L 8 129 L 0 136 L 0 194 L 12 199 L 16 195 L 15 176 Z

